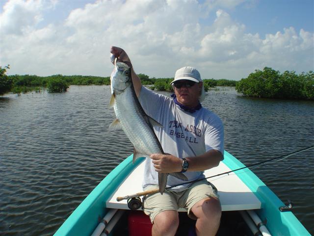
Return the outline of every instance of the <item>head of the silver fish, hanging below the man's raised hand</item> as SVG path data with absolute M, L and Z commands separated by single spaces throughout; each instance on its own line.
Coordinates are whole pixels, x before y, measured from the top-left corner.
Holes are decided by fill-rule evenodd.
M 115 60 L 114 69 L 110 76 L 111 93 L 121 93 L 131 86 L 131 67 Z

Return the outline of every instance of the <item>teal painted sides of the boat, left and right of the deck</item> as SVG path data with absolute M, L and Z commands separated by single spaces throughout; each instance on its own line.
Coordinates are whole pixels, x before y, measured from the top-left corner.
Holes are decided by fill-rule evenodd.
M 108 211 L 106 201 L 131 170 L 144 159 L 139 158 L 133 164 L 132 158 L 132 155 L 130 155 L 112 170 L 73 211 L 54 236 L 91 235 L 97 227 L 99 219 L 103 218 Z M 225 151 L 223 162 L 232 170 L 244 167 L 240 161 L 227 151 Z M 267 220 L 266 227 L 272 235 L 310 236 L 310 233 L 292 212 L 281 212 L 279 210 L 279 207 L 284 206 L 284 203 L 253 172 L 250 170 L 242 171 L 237 176 L 261 201 L 262 208 L 255 211 L 262 220 Z

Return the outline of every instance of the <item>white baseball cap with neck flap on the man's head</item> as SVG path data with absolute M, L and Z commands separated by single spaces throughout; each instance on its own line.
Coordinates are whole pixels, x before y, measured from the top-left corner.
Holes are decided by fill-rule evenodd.
M 197 69 L 191 66 L 184 66 L 176 71 L 175 79 L 170 83 L 170 85 L 174 86 L 173 83 L 179 80 L 190 80 L 194 81 L 196 83 L 203 82 L 201 79 L 200 72 L 198 72 Z M 200 101 L 203 101 L 205 98 L 205 90 L 204 90 L 204 84 L 202 86 L 202 91 L 200 95 Z

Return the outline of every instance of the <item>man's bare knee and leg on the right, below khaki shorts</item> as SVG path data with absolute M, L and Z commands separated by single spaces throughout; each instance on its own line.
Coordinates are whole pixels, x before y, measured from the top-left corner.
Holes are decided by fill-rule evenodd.
M 219 199 L 215 197 L 202 199 L 191 208 L 191 211 L 197 217 L 195 226 L 197 236 L 215 236 L 221 217 Z

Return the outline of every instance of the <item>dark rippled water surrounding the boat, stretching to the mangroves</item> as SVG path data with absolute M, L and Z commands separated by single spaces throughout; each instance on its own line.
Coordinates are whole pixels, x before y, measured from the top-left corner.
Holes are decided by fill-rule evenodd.
M 168 94 L 168 93 L 166 93 Z M 0 235 L 52 235 L 132 153 L 108 131 L 108 86 L 0 98 Z M 252 99 L 210 90 L 203 106 L 222 118 L 225 149 L 246 165 L 314 145 L 314 102 Z M 314 234 L 314 149 L 254 169 Z

